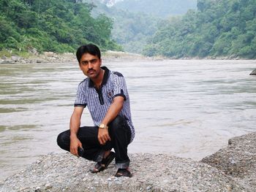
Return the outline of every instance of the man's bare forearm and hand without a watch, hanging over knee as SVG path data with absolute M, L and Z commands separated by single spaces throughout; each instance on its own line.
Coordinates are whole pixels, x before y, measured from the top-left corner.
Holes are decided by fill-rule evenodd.
M 80 119 L 83 113 L 83 107 L 75 107 L 69 123 L 70 128 L 70 153 L 78 156 L 78 147 L 82 147 L 82 143 L 77 137 L 78 129 L 80 127 Z

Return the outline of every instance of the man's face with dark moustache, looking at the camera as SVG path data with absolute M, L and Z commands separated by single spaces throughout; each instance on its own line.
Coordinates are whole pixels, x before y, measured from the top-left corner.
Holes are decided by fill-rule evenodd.
M 99 76 L 102 65 L 102 60 L 97 55 L 91 55 L 90 53 L 84 53 L 80 59 L 80 69 L 87 77 L 96 79 Z

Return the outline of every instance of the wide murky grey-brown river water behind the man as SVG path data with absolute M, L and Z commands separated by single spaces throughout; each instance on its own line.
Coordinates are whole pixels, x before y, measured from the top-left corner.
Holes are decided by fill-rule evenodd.
M 227 140 L 255 131 L 256 61 L 103 61 L 124 74 L 136 128 L 129 153 L 168 153 L 200 160 Z M 1 64 L 0 180 L 61 153 L 69 128 L 78 64 Z M 85 110 L 82 125 L 92 125 Z

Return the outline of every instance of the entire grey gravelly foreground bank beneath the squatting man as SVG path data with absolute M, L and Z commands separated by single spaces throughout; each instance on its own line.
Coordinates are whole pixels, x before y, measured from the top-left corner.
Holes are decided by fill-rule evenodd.
M 255 191 L 256 133 L 230 139 L 217 153 L 193 161 L 166 154 L 130 154 L 132 178 L 116 169 L 91 174 L 91 161 L 69 153 L 43 155 L 1 182 L 0 191 Z

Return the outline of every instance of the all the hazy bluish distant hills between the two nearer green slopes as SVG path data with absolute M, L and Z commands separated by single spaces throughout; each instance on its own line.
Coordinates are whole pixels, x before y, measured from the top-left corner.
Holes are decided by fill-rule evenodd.
M 143 53 L 148 37 L 157 31 L 162 16 L 184 14 L 196 8 L 197 0 L 125 0 L 107 7 L 99 0 L 86 0 L 94 4 L 92 15 L 104 13 L 113 18 L 112 37 L 125 51 Z

